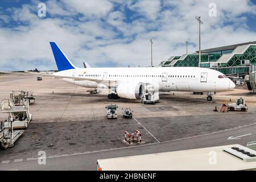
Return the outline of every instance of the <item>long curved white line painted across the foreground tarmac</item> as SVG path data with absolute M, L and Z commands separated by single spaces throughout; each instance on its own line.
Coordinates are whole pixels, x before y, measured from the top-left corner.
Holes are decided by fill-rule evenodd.
M 209 133 L 209 134 L 203 134 L 203 135 L 197 135 L 197 136 L 193 136 L 193 137 L 174 139 L 174 140 L 169 140 L 169 141 L 160 142 L 160 143 L 168 143 L 168 142 L 175 142 L 177 140 L 184 140 L 184 139 L 189 139 L 189 138 L 203 137 L 203 136 L 206 136 L 206 135 L 222 133 L 222 132 L 225 132 L 225 131 L 237 130 L 237 129 L 240 129 L 240 128 L 243 128 L 243 127 L 247 127 L 247 126 L 252 126 L 252 125 L 256 125 L 256 122 L 255 123 L 251 123 L 249 125 L 244 125 L 244 126 L 241 126 L 241 127 L 236 127 L 236 128 L 232 128 L 232 129 L 228 129 L 228 130 L 221 130 L 221 131 L 216 131 L 216 132 Z M 75 156 L 75 155 L 83 155 L 83 154 L 93 154 L 93 153 L 105 152 L 105 151 L 122 150 L 122 149 L 125 149 L 125 148 L 135 148 L 135 147 L 142 147 L 142 146 L 150 146 L 150 145 L 153 145 L 153 144 L 159 144 L 159 143 L 148 143 L 148 144 L 142 144 L 142 145 L 139 145 L 139 146 L 120 147 L 120 148 L 106 149 L 106 150 L 99 150 L 99 151 L 92 151 L 92 152 L 90 152 L 90 151 L 78 152 L 78 153 L 68 154 L 68 155 L 64 155 L 64 156 L 63 155 L 48 156 L 48 157 L 46 157 L 46 159 L 49 159 L 49 158 L 61 158 L 61 157 L 65 157 L 65 156 Z M 30 160 L 38 160 L 38 158 L 34 158 L 34 159 L 30 158 Z M 9 163 L 9 162 L 10 162 L 10 160 L 2 161 L 2 163 Z M 19 161 L 19 162 L 21 162 L 21 161 Z

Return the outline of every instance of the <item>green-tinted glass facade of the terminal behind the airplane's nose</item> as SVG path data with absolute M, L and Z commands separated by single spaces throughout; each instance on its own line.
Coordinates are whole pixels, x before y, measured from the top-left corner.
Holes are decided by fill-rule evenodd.
M 241 47 L 242 48 L 242 47 Z M 242 49 L 226 49 L 222 51 L 212 51 L 201 54 L 200 67 L 216 69 L 225 75 L 233 75 L 237 73 L 248 73 L 249 65 L 256 64 L 256 45 L 251 44 L 249 47 Z M 234 52 L 234 50 L 236 52 Z M 243 53 L 239 53 L 243 52 Z M 226 55 L 229 54 L 229 55 Z M 222 57 L 225 55 L 225 57 Z M 180 59 L 180 56 L 175 56 L 174 59 L 166 61 L 163 66 L 171 65 L 173 67 L 198 67 L 199 66 L 199 54 L 193 53 L 186 56 L 182 56 L 184 59 Z

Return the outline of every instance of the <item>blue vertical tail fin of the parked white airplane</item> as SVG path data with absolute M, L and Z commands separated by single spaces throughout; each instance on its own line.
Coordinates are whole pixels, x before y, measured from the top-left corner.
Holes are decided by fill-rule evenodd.
M 75 69 L 75 65 L 69 61 L 68 57 L 64 55 L 61 49 L 57 46 L 55 42 L 50 42 L 52 53 L 57 64 L 58 71 L 64 71 L 67 69 Z

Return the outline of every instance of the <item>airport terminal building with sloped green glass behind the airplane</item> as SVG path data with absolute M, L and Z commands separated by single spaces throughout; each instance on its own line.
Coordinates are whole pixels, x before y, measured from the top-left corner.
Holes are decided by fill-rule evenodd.
M 171 56 L 162 67 L 198 67 L 199 51 Z M 255 71 L 256 41 L 201 50 L 200 67 L 215 69 L 225 75 L 244 76 Z

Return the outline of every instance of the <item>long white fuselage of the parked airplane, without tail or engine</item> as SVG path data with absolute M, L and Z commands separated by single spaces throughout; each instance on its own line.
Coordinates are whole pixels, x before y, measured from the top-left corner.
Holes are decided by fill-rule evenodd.
M 110 82 L 150 83 L 160 92 L 189 91 L 217 92 L 234 88 L 234 83 L 221 72 L 208 68 L 196 67 L 138 67 L 138 68 L 76 68 L 53 73 L 57 76 L 68 76 L 65 81 L 86 88 L 114 88 Z M 89 78 L 101 82 L 76 80 Z

